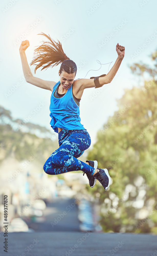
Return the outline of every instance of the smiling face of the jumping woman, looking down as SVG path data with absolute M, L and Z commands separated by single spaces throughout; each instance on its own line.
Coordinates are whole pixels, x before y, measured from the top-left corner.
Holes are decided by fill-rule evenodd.
M 60 83 L 63 89 L 68 89 L 74 82 L 75 73 L 68 74 L 63 70 L 62 73 L 60 73 L 59 71 L 59 76 L 60 76 Z

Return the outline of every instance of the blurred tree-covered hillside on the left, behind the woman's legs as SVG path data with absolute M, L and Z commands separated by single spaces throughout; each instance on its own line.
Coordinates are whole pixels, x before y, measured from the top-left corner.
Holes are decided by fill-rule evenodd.
M 23 120 L 13 120 L 11 112 L 0 106 L 0 162 L 13 155 L 18 161 L 27 160 L 31 154 L 36 155 L 36 161 L 41 165 L 58 148 L 58 141 L 51 140 L 55 137 L 46 127 L 33 123 L 23 123 L 29 132 L 20 129 L 19 124 Z M 13 129 L 16 127 L 16 129 Z M 38 137 L 34 133 L 40 131 L 44 137 Z M 49 135 L 49 137 L 47 137 Z

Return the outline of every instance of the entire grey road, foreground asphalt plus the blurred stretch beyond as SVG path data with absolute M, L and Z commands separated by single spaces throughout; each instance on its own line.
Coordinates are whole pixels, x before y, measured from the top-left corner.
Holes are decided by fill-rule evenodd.
M 157 235 L 81 232 L 74 201 L 57 199 L 49 203 L 44 216 L 27 222 L 34 232 L 8 233 L 7 253 L 3 251 L 5 238 L 1 235 L 0 255 L 157 256 Z

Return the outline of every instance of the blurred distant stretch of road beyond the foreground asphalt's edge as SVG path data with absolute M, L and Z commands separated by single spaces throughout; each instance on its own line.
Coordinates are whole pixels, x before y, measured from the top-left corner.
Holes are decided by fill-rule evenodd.
M 43 211 L 43 217 L 37 218 L 34 222 L 29 220 L 25 220 L 25 222 L 29 228 L 36 232 L 79 231 L 78 207 L 74 202 L 76 202 L 74 198 L 58 198 L 47 204 L 46 210 Z

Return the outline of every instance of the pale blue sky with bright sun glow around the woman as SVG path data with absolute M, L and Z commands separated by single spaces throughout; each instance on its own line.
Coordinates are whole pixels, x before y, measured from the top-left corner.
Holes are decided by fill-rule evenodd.
M 21 41 L 29 40 L 26 56 L 30 64 L 35 48 L 44 40 L 38 34 L 43 32 L 59 40 L 65 54 L 77 65 L 75 79 L 107 74 L 118 57 L 119 43 L 125 47 L 125 56 L 114 79 L 101 91 L 85 89 L 80 101 L 81 123 L 93 145 L 97 131 L 118 110 L 116 99 L 122 97 L 125 88 L 141 82 L 130 66 L 141 62 L 153 67 L 150 55 L 157 50 L 156 8 L 156 0 L 1 1 L 0 105 L 11 111 L 13 119 L 31 116 L 30 122 L 52 131 L 51 91 L 25 81 L 19 54 Z M 100 68 L 98 62 L 108 64 Z M 60 65 L 38 69 L 36 74 L 35 66 L 30 68 L 35 77 L 59 81 Z

